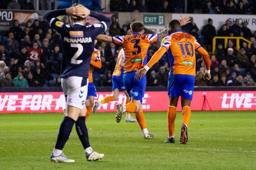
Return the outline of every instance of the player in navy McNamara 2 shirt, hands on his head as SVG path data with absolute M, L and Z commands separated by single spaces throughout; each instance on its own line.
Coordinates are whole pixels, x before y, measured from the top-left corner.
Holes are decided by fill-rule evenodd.
M 65 25 L 58 16 L 68 15 L 74 24 Z M 88 16 L 99 20 L 99 24 L 84 25 Z M 74 124 L 88 161 L 99 160 L 104 154 L 94 152 L 89 143 L 85 125 L 86 100 L 88 92 L 88 71 L 94 48 L 94 40 L 100 33 L 107 30 L 111 18 L 90 11 L 81 4 L 63 10 L 51 10 L 45 18 L 53 29 L 61 34 L 63 41 L 63 61 L 61 63 L 61 87 L 67 99 L 67 116 L 60 125 L 55 148 L 51 155 L 52 162 L 75 162 L 68 159 L 62 152 Z

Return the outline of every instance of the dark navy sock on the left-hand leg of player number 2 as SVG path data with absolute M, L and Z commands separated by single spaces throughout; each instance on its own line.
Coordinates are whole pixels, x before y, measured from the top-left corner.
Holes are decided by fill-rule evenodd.
M 75 124 L 75 120 L 70 117 L 65 117 L 60 125 L 60 131 L 58 134 L 57 142 L 55 148 L 58 150 L 63 150 L 65 143 L 68 141 L 70 132 Z

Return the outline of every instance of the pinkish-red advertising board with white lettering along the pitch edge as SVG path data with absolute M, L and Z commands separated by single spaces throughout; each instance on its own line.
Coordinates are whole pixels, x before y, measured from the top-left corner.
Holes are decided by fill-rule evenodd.
M 95 100 L 111 95 L 98 92 Z M 116 111 L 116 104 L 125 104 L 120 93 L 116 101 L 102 104 L 98 112 Z M 144 111 L 166 111 L 169 104 L 167 92 L 146 92 Z M 62 92 L 1 93 L 0 113 L 51 113 L 62 112 L 66 107 Z M 181 110 L 180 101 L 177 110 Z M 191 110 L 256 110 L 256 91 L 195 91 Z

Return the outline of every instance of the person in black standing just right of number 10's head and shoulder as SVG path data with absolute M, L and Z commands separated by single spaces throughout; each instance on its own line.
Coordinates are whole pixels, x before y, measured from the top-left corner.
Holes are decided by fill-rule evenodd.
M 212 25 L 212 19 L 208 19 L 208 24 L 204 25 L 202 29 L 202 35 L 204 36 L 204 45 L 206 46 L 206 50 L 212 49 L 212 39 L 216 36 L 216 29 Z

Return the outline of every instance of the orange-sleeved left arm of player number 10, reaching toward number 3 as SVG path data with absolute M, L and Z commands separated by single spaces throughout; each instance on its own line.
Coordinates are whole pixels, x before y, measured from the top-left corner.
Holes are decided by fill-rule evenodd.
M 161 59 L 161 57 L 164 55 L 164 53 L 166 52 L 166 48 L 164 46 L 161 46 L 152 56 L 152 58 L 149 60 L 149 62 L 147 63 L 147 65 L 143 68 L 140 69 L 136 72 L 135 74 L 135 78 L 137 80 L 140 80 L 141 78 L 143 78 L 143 76 L 145 76 L 145 74 L 147 74 L 148 69 L 150 69 L 150 67 L 154 66 L 154 64 L 156 64 L 156 62 Z

